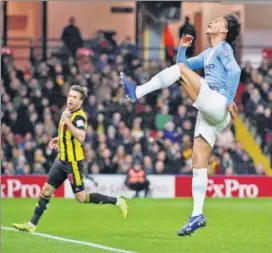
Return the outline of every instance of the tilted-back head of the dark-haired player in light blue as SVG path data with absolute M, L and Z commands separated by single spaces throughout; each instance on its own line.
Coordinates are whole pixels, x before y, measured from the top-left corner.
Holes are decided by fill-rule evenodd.
M 240 21 L 234 14 L 221 16 L 208 24 L 206 33 L 210 36 L 220 36 L 233 45 L 240 34 Z

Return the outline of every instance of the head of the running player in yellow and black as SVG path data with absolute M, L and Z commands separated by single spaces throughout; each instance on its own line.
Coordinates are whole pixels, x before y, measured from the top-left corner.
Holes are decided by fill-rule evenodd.
M 69 111 L 75 111 L 79 109 L 87 95 L 87 88 L 80 85 L 73 85 L 70 88 L 67 97 L 67 108 Z

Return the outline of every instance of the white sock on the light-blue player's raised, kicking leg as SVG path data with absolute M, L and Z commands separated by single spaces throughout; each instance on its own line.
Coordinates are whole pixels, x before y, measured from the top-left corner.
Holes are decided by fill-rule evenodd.
M 177 64 L 166 68 L 153 76 L 149 82 L 137 86 L 136 97 L 139 99 L 152 91 L 166 88 L 178 81 L 179 78 L 180 70 Z

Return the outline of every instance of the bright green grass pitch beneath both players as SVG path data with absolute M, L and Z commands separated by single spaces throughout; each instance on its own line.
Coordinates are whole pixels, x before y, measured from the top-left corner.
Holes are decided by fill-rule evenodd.
M 2 200 L 2 226 L 24 222 L 35 200 Z M 129 201 L 123 220 L 113 206 L 54 199 L 38 231 L 139 253 L 272 253 L 272 199 L 208 199 L 208 225 L 193 236 L 176 231 L 191 212 L 190 199 Z M 102 253 L 102 249 L 2 231 L 3 253 Z

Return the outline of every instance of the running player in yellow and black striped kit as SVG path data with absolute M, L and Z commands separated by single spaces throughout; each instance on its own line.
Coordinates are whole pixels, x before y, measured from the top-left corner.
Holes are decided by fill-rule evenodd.
M 58 149 L 58 158 L 50 169 L 47 182 L 42 189 L 31 220 L 24 224 L 13 224 L 18 230 L 26 232 L 36 230 L 51 196 L 67 178 L 71 183 L 76 199 L 80 203 L 116 205 L 120 208 L 124 218 L 127 218 L 128 207 L 123 197 L 115 198 L 85 191 L 82 171 L 84 159 L 82 143 L 86 137 L 87 117 L 82 109 L 82 103 L 86 97 L 87 90 L 84 87 L 73 85 L 70 88 L 67 108 L 60 119 L 58 136 L 49 143 L 50 148 Z

